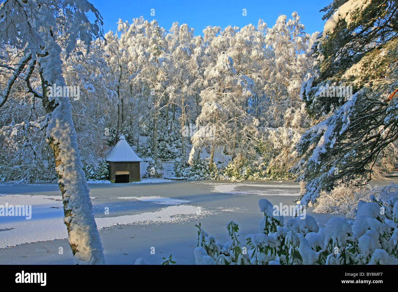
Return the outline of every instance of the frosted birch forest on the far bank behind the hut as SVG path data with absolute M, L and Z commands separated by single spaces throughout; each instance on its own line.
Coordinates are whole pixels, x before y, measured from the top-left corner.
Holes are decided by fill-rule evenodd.
M 68 54 L 66 32 L 58 33 L 66 85 L 78 93 L 70 103 L 86 178 L 106 178 L 105 154 L 122 132 L 156 169 L 147 176 L 160 176 L 159 159 L 177 159 L 176 174 L 193 179 L 293 178 L 293 146 L 311 125 L 300 88 L 313 75 L 309 53 L 318 35 L 304 32 L 296 12 L 272 27 L 259 20 L 257 26 L 207 27 L 203 36 L 187 24 L 167 31 L 156 20 L 119 20 L 118 32 L 91 43 L 90 51 L 78 40 Z M 20 55 L 2 47 L 9 62 Z M 29 86 L 41 87 L 36 72 Z M 40 98 L 16 80 L 0 111 L 7 125 L 1 179 L 54 180 L 45 133 L 18 131 L 26 116 L 45 120 Z

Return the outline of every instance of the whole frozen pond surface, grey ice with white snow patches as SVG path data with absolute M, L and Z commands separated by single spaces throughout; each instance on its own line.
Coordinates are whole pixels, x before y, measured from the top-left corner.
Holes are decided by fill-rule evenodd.
M 153 181 L 152 181 L 153 182 Z M 376 182 L 382 185 L 382 182 Z M 385 184 L 389 184 L 390 181 Z M 179 264 L 195 263 L 198 222 L 226 242 L 226 223 L 239 234 L 258 232 L 258 200 L 293 205 L 300 188 L 293 181 L 170 181 L 89 184 L 96 223 L 109 264 L 132 264 L 139 257 L 159 264 L 173 254 Z M 71 264 L 60 191 L 55 184 L 0 185 L 0 205 L 31 205 L 32 216 L 0 217 L 0 264 Z M 336 215 L 307 210 L 320 225 Z M 340 216 L 342 217 L 342 216 Z M 151 254 L 151 248 L 155 254 Z M 60 254 L 60 248 L 63 253 Z

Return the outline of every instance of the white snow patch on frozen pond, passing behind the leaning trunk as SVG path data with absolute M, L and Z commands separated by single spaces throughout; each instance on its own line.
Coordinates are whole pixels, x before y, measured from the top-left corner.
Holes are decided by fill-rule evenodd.
M 127 197 L 123 197 L 124 199 Z M 181 222 L 195 219 L 207 214 L 203 208 L 198 213 L 196 206 L 177 205 L 189 201 L 160 197 L 141 197 L 158 199 L 158 203 L 175 203 L 156 212 L 146 212 L 120 217 L 96 218 L 98 229 L 118 224 L 150 224 L 164 222 Z M 16 246 L 29 242 L 68 238 L 64 224 L 64 211 L 61 196 L 45 195 L 0 195 L 0 205 L 32 205 L 32 218 L 1 217 L 0 248 Z

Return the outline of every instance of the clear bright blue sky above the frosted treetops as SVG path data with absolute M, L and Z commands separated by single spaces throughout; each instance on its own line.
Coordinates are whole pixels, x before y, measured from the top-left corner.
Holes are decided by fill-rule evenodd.
M 203 35 L 202 30 L 208 25 L 228 25 L 243 27 L 252 23 L 257 25 L 263 19 L 268 27 L 274 25 L 281 14 L 288 18 L 297 11 L 307 33 L 322 31 L 323 12 L 319 10 L 330 4 L 332 0 L 263 0 L 263 1 L 136 1 L 136 0 L 89 0 L 100 11 L 104 21 L 104 31 L 117 30 L 117 21 L 129 21 L 141 15 L 147 19 L 157 19 L 160 26 L 170 29 L 174 21 L 187 23 L 195 29 L 195 35 Z M 155 16 L 151 16 L 154 9 Z M 242 15 L 246 9 L 247 16 Z

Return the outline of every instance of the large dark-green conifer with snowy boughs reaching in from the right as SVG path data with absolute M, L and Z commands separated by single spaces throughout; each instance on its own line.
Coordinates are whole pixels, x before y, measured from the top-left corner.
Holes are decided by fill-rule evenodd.
M 304 205 L 341 184 L 363 185 L 376 167 L 397 162 L 396 1 L 336 0 L 324 11 L 328 20 L 313 46 L 315 73 L 301 88 L 317 122 L 297 144 Z M 347 86 L 352 94 L 340 90 Z

